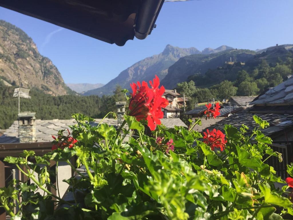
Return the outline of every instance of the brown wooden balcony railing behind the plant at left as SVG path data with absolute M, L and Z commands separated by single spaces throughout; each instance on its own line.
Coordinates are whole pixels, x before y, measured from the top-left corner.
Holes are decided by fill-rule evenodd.
M 5 169 L 8 169 L 8 164 L 3 160 L 6 156 L 18 157 L 19 153 L 22 153 L 23 150 L 33 150 L 38 156 L 42 156 L 45 153 L 50 152 L 52 149 L 51 142 L 35 142 L 35 143 L 9 143 L 1 144 L 0 143 L 0 188 L 5 187 Z M 25 170 L 25 167 L 22 167 Z M 56 169 L 56 162 L 50 161 L 50 170 Z M 25 175 L 20 175 L 21 181 L 26 182 L 27 177 Z M 56 184 L 56 177 L 50 176 L 50 180 L 53 184 Z M 56 195 L 56 190 L 53 187 L 48 189 L 51 193 Z M 6 219 L 6 212 L 3 208 L 0 208 L 0 220 Z

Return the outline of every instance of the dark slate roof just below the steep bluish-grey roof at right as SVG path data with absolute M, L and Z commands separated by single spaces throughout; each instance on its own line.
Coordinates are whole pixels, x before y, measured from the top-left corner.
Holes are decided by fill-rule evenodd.
M 224 118 L 219 122 L 214 123 L 212 126 L 208 127 L 211 129 L 219 129 L 224 131 L 225 124 L 231 124 L 236 128 L 240 128 L 242 124 L 248 126 L 250 131 L 255 126 L 255 121 L 253 120 L 253 115 L 257 115 L 263 120 L 270 123 L 268 128 L 263 129 L 263 133 L 267 136 L 271 136 L 273 133 L 282 131 L 285 128 L 293 126 L 293 115 L 290 114 L 259 114 L 249 112 L 251 108 L 243 109 L 230 117 Z

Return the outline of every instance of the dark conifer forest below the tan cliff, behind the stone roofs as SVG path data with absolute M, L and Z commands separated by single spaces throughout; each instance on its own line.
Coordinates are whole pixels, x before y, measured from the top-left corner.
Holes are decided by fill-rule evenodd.
M 18 99 L 13 98 L 14 88 L 6 87 L 0 81 L 0 129 L 6 129 L 17 120 Z M 103 118 L 109 111 L 115 111 L 115 101 L 125 100 L 125 95 L 117 87 L 113 96 L 53 97 L 38 89 L 30 91 L 31 99 L 20 101 L 21 111 L 36 112 L 37 119 L 70 119 L 72 113 L 82 113 L 94 118 Z

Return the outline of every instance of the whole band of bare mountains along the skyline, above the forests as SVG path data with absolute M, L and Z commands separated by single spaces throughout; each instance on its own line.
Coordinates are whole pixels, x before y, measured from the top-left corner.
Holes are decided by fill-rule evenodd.
M 179 48 L 168 44 L 161 53 L 136 62 L 105 85 L 66 85 L 57 67 L 49 58 L 40 55 L 35 43 L 24 31 L 0 20 L 0 83 L 37 88 L 52 96 L 77 93 L 102 96 L 113 94 L 117 85 L 130 89 L 131 82 L 149 81 L 158 75 L 166 89 L 173 89 L 178 82 L 205 75 L 225 63 L 239 62 L 239 65 L 245 63 L 245 66 L 253 67 L 263 59 L 268 63 L 277 62 L 286 57 L 286 51 L 292 48 L 292 44 L 286 44 L 254 51 L 222 45 L 200 51 L 194 47 Z

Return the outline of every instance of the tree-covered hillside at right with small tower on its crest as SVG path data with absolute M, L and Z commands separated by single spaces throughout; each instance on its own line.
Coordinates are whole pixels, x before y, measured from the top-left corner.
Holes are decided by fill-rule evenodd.
M 254 96 L 280 84 L 292 72 L 293 51 L 275 48 L 257 54 L 245 63 L 226 62 L 205 74 L 190 75 L 186 82 L 177 84 L 177 90 L 192 97 L 192 103 L 212 98 L 229 99 L 236 95 Z

